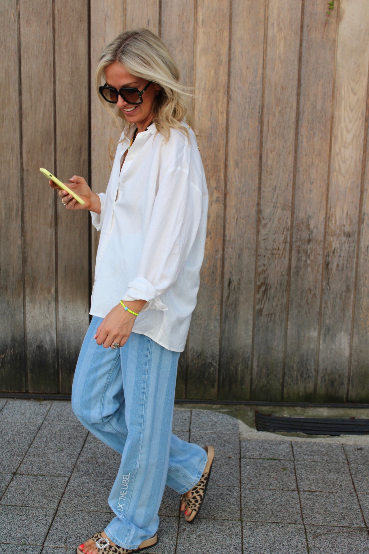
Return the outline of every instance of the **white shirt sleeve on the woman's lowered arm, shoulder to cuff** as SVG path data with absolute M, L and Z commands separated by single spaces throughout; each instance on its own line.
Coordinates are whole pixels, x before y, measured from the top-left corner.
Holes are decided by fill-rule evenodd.
M 137 276 L 123 300 L 146 300 L 143 310 L 167 310 L 161 297 L 173 286 L 193 247 L 202 212 L 200 173 L 191 171 L 190 146 L 171 152 L 160 178 Z M 198 179 L 196 180 L 196 177 Z

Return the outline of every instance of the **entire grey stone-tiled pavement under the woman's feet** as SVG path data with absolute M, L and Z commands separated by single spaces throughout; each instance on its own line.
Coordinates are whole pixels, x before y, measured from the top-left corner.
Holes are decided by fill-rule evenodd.
M 174 411 L 173 430 L 214 444 L 193 525 L 165 490 L 155 554 L 369 554 L 367 437 L 257 433 L 224 413 Z M 119 465 L 69 402 L 0 399 L 0 543 L 7 554 L 72 554 L 113 517 Z M 101 444 L 101 443 L 100 443 Z

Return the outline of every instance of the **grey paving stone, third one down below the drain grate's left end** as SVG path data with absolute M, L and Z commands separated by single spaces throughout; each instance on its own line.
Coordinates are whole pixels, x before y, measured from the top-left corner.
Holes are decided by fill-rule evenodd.
M 302 524 L 297 491 L 242 489 L 242 519 Z

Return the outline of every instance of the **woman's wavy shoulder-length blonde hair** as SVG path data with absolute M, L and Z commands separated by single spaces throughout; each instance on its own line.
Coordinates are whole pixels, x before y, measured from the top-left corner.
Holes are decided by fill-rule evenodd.
M 189 122 L 188 99 L 193 95 L 188 87 L 179 84 L 178 68 L 163 41 L 149 29 L 121 33 L 100 55 L 95 76 L 97 93 L 105 70 L 115 61 L 122 64 L 132 75 L 153 81 L 162 87 L 154 100 L 153 121 L 157 133 L 162 133 L 165 140 L 168 140 L 170 129 L 178 129 L 189 139 L 188 128 L 181 122 L 184 119 Z M 121 125 L 118 117 L 128 125 L 121 110 L 117 107 L 112 110 L 99 93 L 98 97 L 119 128 Z

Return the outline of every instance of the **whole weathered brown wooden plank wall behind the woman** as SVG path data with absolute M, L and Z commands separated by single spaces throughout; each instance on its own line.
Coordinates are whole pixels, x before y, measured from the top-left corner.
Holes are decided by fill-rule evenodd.
M 1 3 L 2 390 L 70 392 L 98 234 L 38 168 L 105 190 L 118 131 L 96 63 L 123 29 L 148 27 L 195 88 L 210 194 L 176 396 L 369 402 L 369 4 L 327 11 L 327 0 Z

